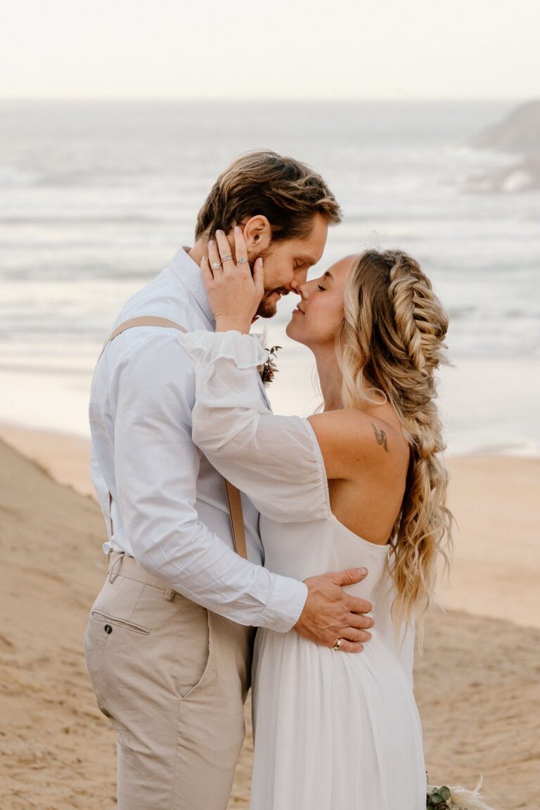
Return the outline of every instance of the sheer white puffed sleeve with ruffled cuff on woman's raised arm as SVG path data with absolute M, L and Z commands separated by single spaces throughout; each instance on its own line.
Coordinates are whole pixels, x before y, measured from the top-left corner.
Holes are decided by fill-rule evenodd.
M 260 335 L 195 331 L 178 335 L 195 362 L 193 442 L 210 463 L 279 522 L 330 515 L 317 437 L 300 416 L 274 416 L 257 367 L 269 352 Z

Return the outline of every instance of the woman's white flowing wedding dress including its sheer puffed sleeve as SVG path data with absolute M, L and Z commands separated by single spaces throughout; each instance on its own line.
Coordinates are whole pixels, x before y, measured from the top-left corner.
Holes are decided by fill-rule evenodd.
M 179 339 L 196 364 L 193 441 L 259 509 L 266 567 L 300 580 L 359 565 L 369 572 L 347 587 L 373 603 L 362 652 L 317 646 L 293 630 L 257 632 L 252 810 L 425 810 L 414 627 L 394 636 L 389 546 L 332 514 L 313 428 L 263 402 L 255 369 L 268 354 L 257 335 Z

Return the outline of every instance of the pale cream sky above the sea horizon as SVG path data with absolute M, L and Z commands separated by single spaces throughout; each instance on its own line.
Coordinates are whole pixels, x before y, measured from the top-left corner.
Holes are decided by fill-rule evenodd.
M 539 0 L 2 0 L 0 97 L 530 98 Z

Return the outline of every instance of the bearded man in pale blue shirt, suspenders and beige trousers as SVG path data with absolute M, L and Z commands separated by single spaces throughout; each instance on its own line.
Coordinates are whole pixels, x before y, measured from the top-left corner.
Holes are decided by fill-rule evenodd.
M 193 366 L 173 325 L 214 328 L 199 262 L 216 230 L 232 245 L 240 224 L 249 262 L 264 258 L 259 314 L 269 318 L 280 296 L 304 282 L 340 219 L 334 196 L 304 164 L 273 152 L 240 157 L 199 212 L 193 248 L 179 250 L 115 322 L 157 316 L 168 328 L 136 322 L 109 340 L 96 365 L 91 473 L 109 570 L 85 651 L 100 709 L 117 730 L 120 810 L 227 807 L 254 627 L 294 627 L 325 646 L 340 638 L 336 654 L 358 652 L 370 637 L 371 604 L 342 590 L 364 569 L 306 582 L 271 573 L 244 497 L 247 559 L 233 550 L 225 482 L 191 441 Z

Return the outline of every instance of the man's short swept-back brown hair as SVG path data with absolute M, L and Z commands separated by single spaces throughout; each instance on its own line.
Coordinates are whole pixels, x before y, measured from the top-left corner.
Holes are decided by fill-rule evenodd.
M 251 151 L 222 172 L 198 213 L 195 239 L 216 229 L 226 233 L 246 217 L 266 216 L 272 239 L 306 237 L 313 217 L 329 224 L 342 220 L 342 211 L 321 175 L 299 160 L 274 151 Z

